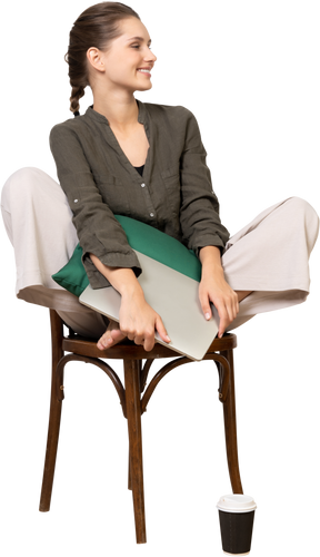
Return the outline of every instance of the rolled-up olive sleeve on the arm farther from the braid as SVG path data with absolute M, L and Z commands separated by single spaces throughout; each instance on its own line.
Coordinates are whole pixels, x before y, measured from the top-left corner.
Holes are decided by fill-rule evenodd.
M 183 242 L 199 256 L 201 247 L 213 245 L 223 250 L 230 238 L 230 226 L 223 217 L 222 199 L 214 189 L 210 150 L 198 123 L 188 113 L 186 143 L 180 159 L 180 224 Z

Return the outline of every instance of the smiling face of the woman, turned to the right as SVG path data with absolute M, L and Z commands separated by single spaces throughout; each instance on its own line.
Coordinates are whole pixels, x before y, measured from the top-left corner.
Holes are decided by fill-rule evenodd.
M 99 51 L 100 77 L 103 75 L 108 89 L 147 92 L 154 87 L 154 71 L 160 60 L 159 52 L 153 50 L 154 36 L 149 26 L 137 18 L 124 19 L 119 26 L 122 35 L 106 52 Z

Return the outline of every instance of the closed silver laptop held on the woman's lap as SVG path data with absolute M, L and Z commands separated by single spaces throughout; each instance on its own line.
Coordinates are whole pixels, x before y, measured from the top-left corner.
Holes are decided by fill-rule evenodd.
M 219 328 L 214 317 L 204 319 L 199 302 L 199 283 L 140 252 L 136 253 L 142 268 L 138 281 L 146 301 L 159 313 L 171 339 L 168 344 L 156 332 L 156 341 L 201 362 Z M 121 295 L 112 286 L 93 290 L 89 285 L 79 302 L 119 322 Z

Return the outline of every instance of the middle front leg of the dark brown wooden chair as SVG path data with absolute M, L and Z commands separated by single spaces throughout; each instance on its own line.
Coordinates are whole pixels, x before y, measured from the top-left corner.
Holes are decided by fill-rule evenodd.
M 146 429 L 144 420 L 141 417 L 140 373 L 141 362 L 138 360 L 127 360 L 123 362 L 121 375 L 124 380 L 127 404 L 127 419 L 124 423 L 126 492 L 129 494 L 132 544 L 134 548 L 150 547 Z

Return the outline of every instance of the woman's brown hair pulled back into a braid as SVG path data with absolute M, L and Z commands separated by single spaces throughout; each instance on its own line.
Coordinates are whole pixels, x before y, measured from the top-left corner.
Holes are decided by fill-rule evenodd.
M 119 21 L 144 14 L 132 2 L 93 0 L 79 8 L 69 21 L 61 61 L 64 67 L 67 115 L 83 108 L 90 101 L 89 48 L 108 50 L 111 41 L 121 35 Z M 68 45 L 69 41 L 69 45 Z

